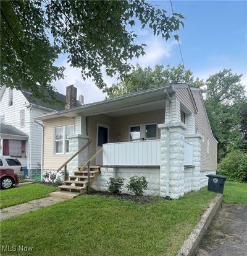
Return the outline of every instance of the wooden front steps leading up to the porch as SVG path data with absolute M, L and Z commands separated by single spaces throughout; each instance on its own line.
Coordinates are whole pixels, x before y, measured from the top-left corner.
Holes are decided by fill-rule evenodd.
M 86 193 L 86 187 L 88 185 L 88 170 L 87 168 L 80 171 L 80 166 L 76 170 L 74 175 L 69 176 L 69 180 L 64 181 L 64 185 L 59 186 L 59 192 L 52 192 L 50 196 L 57 198 L 73 198 L 82 193 Z M 90 167 L 90 184 L 94 182 L 99 175 L 99 166 Z

